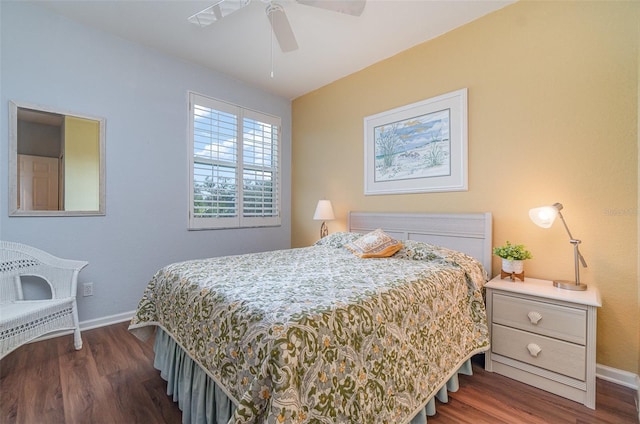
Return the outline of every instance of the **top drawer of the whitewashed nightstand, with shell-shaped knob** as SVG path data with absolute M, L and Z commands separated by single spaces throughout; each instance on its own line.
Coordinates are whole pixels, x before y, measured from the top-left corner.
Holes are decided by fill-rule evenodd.
M 492 322 L 572 343 L 586 344 L 585 309 L 494 293 Z

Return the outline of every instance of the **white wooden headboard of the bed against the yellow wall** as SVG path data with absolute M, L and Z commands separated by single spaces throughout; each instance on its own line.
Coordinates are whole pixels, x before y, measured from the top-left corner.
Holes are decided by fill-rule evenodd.
M 398 240 L 416 240 L 458 250 L 478 259 L 491 277 L 491 212 L 468 214 L 349 212 L 348 229 L 382 228 Z

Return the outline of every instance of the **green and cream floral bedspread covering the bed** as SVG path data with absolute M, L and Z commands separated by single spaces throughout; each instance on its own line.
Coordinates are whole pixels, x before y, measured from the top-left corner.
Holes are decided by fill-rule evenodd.
M 130 329 L 158 325 L 237 405 L 233 423 L 404 423 L 489 346 L 486 273 L 407 241 L 361 259 L 316 245 L 166 266 Z

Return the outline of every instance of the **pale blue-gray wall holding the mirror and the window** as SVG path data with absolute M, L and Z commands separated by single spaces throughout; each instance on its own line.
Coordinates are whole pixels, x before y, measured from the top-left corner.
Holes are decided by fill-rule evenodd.
M 168 263 L 290 246 L 288 99 L 32 4 L 0 2 L 0 22 L 0 238 L 89 261 L 81 321 L 134 310 Z M 282 118 L 282 226 L 187 231 L 188 90 Z M 8 216 L 9 100 L 106 119 L 106 216 Z

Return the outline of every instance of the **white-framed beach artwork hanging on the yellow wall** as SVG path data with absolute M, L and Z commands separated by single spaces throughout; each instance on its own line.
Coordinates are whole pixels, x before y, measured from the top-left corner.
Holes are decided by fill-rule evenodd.
M 467 89 L 364 118 L 364 194 L 467 190 Z

